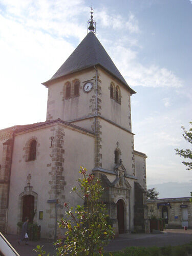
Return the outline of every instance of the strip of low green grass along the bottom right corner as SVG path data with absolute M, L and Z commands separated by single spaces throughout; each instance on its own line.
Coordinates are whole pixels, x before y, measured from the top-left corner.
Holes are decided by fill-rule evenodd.
M 106 252 L 104 256 L 192 256 L 192 242 L 177 246 L 141 247 L 131 246 L 116 252 Z

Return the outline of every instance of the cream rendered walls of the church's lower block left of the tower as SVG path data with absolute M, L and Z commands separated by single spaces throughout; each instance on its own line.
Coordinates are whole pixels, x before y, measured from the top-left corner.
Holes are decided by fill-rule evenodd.
M 37 155 L 28 161 L 28 141 L 37 141 Z M 91 173 L 94 168 L 94 141 L 91 133 L 58 123 L 46 124 L 15 134 L 10 185 L 8 232 L 17 233 L 17 222 L 22 221 L 23 198 L 34 196 L 34 221 L 41 226 L 42 238 L 54 238 L 55 203 L 58 200 L 58 221 L 65 214 L 62 205 L 81 204 L 71 188 L 76 185 L 80 165 L 86 166 Z M 26 161 L 27 160 L 27 161 Z M 1 189 L 0 189 L 1 190 Z M 43 212 L 43 219 L 39 218 Z M 57 229 L 57 234 L 63 230 Z

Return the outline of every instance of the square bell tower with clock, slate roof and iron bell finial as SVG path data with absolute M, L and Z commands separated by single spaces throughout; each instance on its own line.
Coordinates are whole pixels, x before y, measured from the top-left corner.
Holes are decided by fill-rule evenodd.
M 119 142 L 120 158 L 133 175 L 130 97 L 136 92 L 129 87 L 95 31 L 92 8 L 88 34 L 53 77 L 42 83 L 49 89 L 47 120 L 60 118 L 95 133 L 95 166 L 114 169 L 114 152 Z

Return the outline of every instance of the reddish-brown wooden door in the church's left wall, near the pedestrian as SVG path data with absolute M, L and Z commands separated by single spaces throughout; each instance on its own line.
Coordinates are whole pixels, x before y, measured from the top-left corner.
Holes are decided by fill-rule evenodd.
M 33 223 L 34 196 L 28 195 L 23 197 L 23 215 L 22 215 L 23 222 L 25 222 L 25 217 L 28 217 L 29 222 Z

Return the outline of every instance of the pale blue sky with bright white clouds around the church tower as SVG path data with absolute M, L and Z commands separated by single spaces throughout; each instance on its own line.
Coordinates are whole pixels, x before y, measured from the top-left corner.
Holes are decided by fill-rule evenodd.
M 190 147 L 192 0 L 0 0 L 0 129 L 45 121 L 50 79 L 87 35 L 96 36 L 137 94 L 135 150 L 147 155 L 147 188 L 187 197 L 192 171 L 174 148 Z

